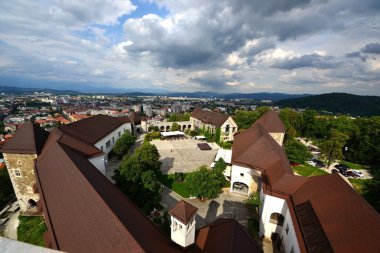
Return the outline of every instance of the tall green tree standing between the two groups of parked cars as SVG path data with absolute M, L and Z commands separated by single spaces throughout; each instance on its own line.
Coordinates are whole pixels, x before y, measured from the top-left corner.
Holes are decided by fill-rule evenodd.
M 343 158 L 342 150 L 348 138 L 346 134 L 333 129 L 329 138 L 319 145 L 322 158 L 327 160 L 327 166 L 330 166 L 333 161 Z

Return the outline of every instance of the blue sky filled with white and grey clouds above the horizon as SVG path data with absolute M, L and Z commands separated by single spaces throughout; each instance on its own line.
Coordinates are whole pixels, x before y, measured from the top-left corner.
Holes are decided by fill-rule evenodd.
M 380 95 L 380 1 L 0 1 L 0 85 Z

